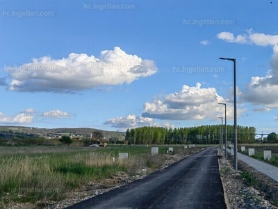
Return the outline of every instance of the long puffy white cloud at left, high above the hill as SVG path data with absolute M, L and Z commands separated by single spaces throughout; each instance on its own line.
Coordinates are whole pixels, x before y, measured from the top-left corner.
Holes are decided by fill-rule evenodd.
M 130 84 L 156 73 L 152 60 L 126 54 L 120 47 L 105 50 L 97 58 L 70 54 L 63 59 L 44 56 L 20 66 L 6 66 L 9 91 L 74 93 L 101 85 Z

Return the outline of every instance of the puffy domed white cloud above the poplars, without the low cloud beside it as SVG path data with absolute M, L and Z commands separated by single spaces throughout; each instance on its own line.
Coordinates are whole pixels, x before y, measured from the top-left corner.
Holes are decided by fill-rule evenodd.
M 219 102 L 224 99 L 215 88 L 201 88 L 201 84 L 190 87 L 183 85 L 181 91 L 165 95 L 162 100 L 146 102 L 143 117 L 167 120 L 216 120 L 223 116 L 223 107 Z M 227 117 L 233 118 L 234 109 L 227 103 Z M 238 110 L 240 115 L 244 109 Z

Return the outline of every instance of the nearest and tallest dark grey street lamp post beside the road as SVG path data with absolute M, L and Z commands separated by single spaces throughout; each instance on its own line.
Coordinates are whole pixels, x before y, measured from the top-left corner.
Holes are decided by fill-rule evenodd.
M 238 170 L 238 130 L 236 121 L 236 59 L 220 57 L 219 59 L 229 60 L 234 63 L 234 169 Z

